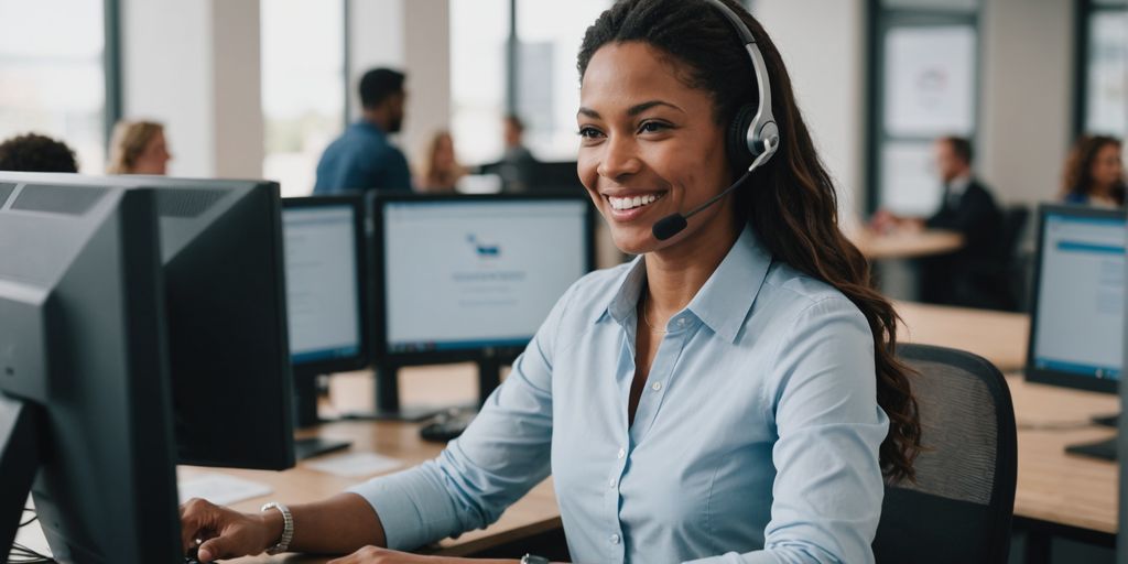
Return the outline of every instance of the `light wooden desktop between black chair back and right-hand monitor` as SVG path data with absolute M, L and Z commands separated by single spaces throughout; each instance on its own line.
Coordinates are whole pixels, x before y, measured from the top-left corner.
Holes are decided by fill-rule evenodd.
M 972 352 L 1002 372 L 1022 370 L 1026 363 L 1030 316 L 1025 314 L 911 301 L 898 301 L 893 307 L 901 316 L 899 341 Z

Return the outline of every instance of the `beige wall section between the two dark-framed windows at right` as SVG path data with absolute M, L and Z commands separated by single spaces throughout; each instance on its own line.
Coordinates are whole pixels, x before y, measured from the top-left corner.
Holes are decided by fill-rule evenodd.
M 1056 196 L 1072 135 L 1073 2 L 987 0 L 979 174 L 1003 202 Z

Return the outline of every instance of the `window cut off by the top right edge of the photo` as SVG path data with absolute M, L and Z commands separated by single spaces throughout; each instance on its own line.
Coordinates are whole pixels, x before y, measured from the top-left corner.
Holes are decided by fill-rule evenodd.
M 1096 0 L 1084 14 L 1078 102 L 1087 133 L 1128 133 L 1128 1 Z

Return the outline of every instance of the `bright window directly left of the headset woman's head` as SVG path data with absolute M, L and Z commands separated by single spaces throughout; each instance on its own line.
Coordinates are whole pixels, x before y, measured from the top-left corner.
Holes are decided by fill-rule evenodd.
M 588 26 L 610 5 L 451 0 L 452 130 L 460 160 L 482 164 L 501 157 L 506 113 L 526 122 L 525 142 L 537 158 L 575 160 L 575 56 Z

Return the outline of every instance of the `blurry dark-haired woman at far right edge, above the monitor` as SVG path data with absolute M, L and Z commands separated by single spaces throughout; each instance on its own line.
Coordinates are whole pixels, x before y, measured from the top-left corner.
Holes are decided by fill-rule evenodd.
M 1125 167 L 1119 139 L 1082 135 L 1065 164 L 1061 199 L 1070 204 L 1119 208 L 1125 204 Z

